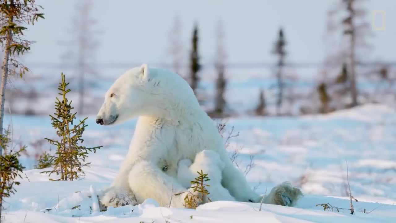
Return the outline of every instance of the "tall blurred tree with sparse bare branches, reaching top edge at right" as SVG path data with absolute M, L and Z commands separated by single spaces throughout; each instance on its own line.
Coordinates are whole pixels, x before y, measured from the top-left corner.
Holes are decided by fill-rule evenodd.
M 350 103 L 347 107 L 354 107 L 359 103 L 357 89 L 359 78 L 356 75 L 357 67 L 362 62 L 359 56 L 364 55 L 367 58 L 367 52 L 370 49 L 367 38 L 372 33 L 370 25 L 366 21 L 367 12 L 363 2 L 364 0 L 340 0 L 327 13 L 326 35 L 333 39 L 328 41 L 329 47 L 332 49 L 326 63 L 328 66 L 338 67 L 338 69 L 344 64 L 346 66 L 346 81 L 350 92 Z M 337 34 L 341 34 L 341 37 Z M 341 47 L 334 47 L 335 45 Z

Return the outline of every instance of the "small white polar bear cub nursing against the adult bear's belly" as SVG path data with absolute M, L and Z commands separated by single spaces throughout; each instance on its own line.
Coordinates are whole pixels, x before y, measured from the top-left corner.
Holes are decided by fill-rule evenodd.
M 198 177 L 202 171 L 208 174 L 210 181 L 206 189 L 209 192 L 208 197 L 211 201 L 229 200 L 234 201 L 230 192 L 221 185 L 221 175 L 225 164 L 221 161 L 219 154 L 211 150 L 202 150 L 196 154 L 194 163 L 191 160 L 180 160 L 177 169 L 177 181 L 184 187 L 190 188 L 191 181 Z

